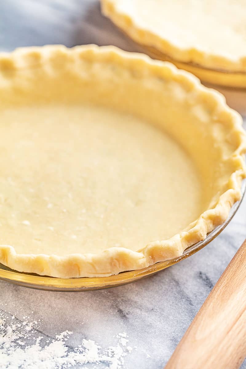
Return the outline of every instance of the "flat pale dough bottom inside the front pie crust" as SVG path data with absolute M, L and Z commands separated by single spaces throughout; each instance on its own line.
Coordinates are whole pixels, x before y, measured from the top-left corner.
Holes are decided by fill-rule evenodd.
M 52 104 L 1 119 L 0 242 L 20 254 L 137 251 L 204 210 L 191 159 L 139 118 Z

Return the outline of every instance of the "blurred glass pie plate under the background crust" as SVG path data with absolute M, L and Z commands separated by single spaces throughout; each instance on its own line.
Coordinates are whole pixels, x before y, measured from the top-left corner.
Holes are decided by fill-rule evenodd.
M 141 46 L 141 48 L 153 59 L 169 61 L 177 68 L 193 73 L 205 86 L 221 92 L 231 108 L 237 110 L 241 115 L 246 115 L 246 73 L 204 68 L 197 64 L 170 58 L 150 46 L 144 46 L 144 48 Z

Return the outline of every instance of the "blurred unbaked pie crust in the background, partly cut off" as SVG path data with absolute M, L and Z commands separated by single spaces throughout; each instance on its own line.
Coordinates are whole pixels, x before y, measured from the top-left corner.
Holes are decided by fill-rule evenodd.
M 246 72 L 245 0 L 101 0 L 139 44 L 208 69 Z

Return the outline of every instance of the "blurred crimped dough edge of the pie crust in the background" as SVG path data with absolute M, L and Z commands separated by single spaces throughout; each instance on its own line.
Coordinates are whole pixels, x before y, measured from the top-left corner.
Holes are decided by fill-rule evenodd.
M 141 28 L 126 13 L 117 10 L 114 0 L 100 0 L 102 13 L 121 28 L 129 37 L 142 46 L 150 46 L 163 55 L 167 55 L 177 62 L 194 63 L 201 68 L 218 70 L 221 72 L 246 73 L 246 55 L 235 60 L 226 56 L 207 53 L 196 48 L 180 48 L 173 44 L 171 36 L 162 38 L 158 34 Z

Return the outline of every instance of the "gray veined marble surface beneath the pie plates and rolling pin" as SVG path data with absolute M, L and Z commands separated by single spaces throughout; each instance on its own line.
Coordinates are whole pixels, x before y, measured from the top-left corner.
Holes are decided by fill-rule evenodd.
M 98 1 L 0 1 L 1 50 L 87 43 L 137 50 L 102 17 Z M 245 237 L 246 198 L 211 244 L 156 275 L 126 286 L 82 293 L 45 292 L 0 282 L 0 309 L 6 318 L 11 314 L 22 320 L 30 315 L 40 320 L 39 329 L 50 337 L 73 331 L 67 341 L 71 348 L 82 338 L 102 347 L 116 345 L 116 335 L 127 332 L 128 344 L 134 349 L 125 356 L 124 368 L 163 368 Z M 100 368 L 107 367 L 100 364 Z

